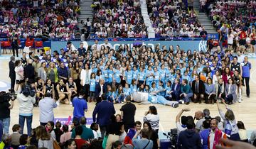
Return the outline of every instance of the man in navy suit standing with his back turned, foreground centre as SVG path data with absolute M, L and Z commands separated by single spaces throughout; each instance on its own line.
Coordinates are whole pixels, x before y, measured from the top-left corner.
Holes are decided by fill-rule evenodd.
M 100 132 L 102 138 L 105 136 L 107 126 L 110 124 L 110 117 L 115 114 L 114 104 L 107 101 L 106 94 L 102 94 L 102 101 L 96 104 L 95 109 L 92 113 L 93 122 L 97 122 L 100 126 Z M 96 120 L 97 114 L 97 120 Z

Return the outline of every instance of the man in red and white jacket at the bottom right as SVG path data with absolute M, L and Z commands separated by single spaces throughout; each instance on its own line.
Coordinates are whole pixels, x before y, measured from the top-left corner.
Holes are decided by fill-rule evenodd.
M 218 121 L 217 119 L 213 118 L 210 120 L 210 133 L 208 136 L 208 148 L 213 149 L 217 145 L 224 146 L 223 143 L 220 142 L 220 138 L 227 138 L 227 134 L 223 133 L 218 129 Z

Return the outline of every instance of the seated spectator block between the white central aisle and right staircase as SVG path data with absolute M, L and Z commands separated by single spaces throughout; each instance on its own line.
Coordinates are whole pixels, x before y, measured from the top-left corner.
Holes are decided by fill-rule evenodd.
M 156 37 L 206 37 L 193 6 L 165 0 L 147 0 L 146 4 Z

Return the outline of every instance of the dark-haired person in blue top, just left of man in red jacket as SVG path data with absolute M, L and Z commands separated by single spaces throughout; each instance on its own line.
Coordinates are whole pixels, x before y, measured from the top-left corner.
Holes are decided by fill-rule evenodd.
M 210 119 L 203 121 L 203 130 L 199 133 L 202 140 L 202 149 L 208 149 L 208 136 L 210 133 Z

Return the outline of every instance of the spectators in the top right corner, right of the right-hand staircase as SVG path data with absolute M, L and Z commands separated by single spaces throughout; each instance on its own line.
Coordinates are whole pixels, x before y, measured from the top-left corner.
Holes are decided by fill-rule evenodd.
M 218 29 L 219 43 L 228 48 L 255 53 L 255 1 L 201 0 L 201 11 L 206 12 Z

